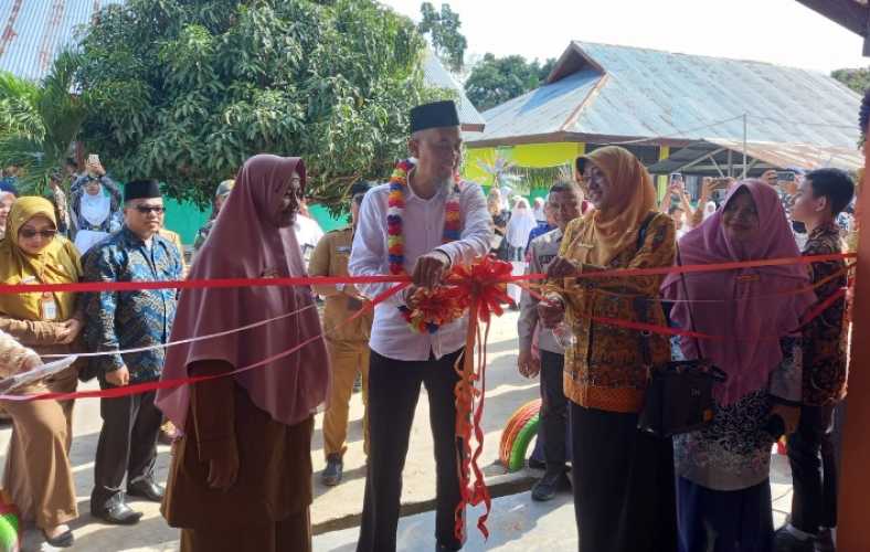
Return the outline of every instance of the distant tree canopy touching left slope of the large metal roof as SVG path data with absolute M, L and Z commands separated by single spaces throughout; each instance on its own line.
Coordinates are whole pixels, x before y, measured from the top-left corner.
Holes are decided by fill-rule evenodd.
M 538 60 L 527 62 L 521 55 L 496 57 L 486 54 L 471 70 L 465 92 L 475 107 L 485 112 L 538 88 L 554 65 L 554 59 L 541 65 Z

